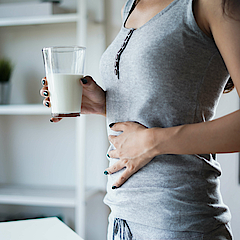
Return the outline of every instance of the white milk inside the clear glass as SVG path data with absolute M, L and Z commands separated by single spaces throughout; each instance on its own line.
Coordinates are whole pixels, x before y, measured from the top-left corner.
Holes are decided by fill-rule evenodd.
M 83 75 L 54 73 L 47 76 L 52 114 L 80 113 Z

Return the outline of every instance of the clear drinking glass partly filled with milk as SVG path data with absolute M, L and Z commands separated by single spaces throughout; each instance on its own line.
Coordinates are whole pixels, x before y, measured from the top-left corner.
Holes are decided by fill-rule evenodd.
M 81 112 L 86 48 L 45 47 L 42 50 L 52 117 L 78 117 Z

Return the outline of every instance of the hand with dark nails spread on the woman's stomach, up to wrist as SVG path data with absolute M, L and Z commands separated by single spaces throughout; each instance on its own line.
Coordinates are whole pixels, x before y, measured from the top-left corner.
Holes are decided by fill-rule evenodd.
M 105 173 L 113 174 L 126 168 L 113 189 L 120 187 L 134 173 L 149 163 L 154 157 L 154 139 L 151 129 L 136 122 L 115 123 L 111 129 L 122 132 L 119 136 L 109 136 L 116 148 L 108 153 L 110 158 L 119 158 Z

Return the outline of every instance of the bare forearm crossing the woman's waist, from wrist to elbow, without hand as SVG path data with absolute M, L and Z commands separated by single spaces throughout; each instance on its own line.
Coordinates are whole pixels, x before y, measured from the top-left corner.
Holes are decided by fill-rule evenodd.
M 240 110 L 213 121 L 151 131 L 155 155 L 239 152 Z

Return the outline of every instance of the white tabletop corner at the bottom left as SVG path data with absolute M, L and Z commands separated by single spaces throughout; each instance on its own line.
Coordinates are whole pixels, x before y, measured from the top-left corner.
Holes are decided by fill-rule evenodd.
M 0 223 L 1 240 L 83 240 L 58 218 Z

